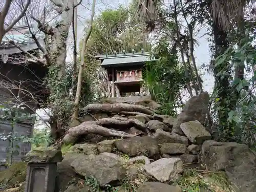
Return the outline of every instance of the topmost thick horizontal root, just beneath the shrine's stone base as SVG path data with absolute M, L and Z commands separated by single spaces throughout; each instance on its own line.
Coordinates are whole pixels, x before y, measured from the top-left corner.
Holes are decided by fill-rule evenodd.
M 140 112 L 147 115 L 153 115 L 153 111 L 147 109 L 145 106 L 136 105 L 136 104 L 126 104 L 126 103 L 93 103 L 88 104 L 85 108 L 82 109 L 86 112 L 96 113 L 96 112 L 105 112 L 105 113 L 119 113 L 122 111 L 126 112 Z

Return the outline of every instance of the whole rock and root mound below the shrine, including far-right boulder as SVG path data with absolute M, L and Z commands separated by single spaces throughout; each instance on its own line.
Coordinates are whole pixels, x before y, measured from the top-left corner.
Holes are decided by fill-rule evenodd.
M 200 162 L 213 172 L 224 170 L 238 191 L 254 191 L 255 154 L 243 144 L 211 140 L 203 126 L 208 103 L 207 92 L 192 97 L 177 118 L 154 114 L 154 104 L 148 102 L 143 106 L 112 99 L 89 104 L 81 124 L 71 127 L 63 138 L 64 146 L 73 146 L 58 165 L 60 180 L 68 180 L 61 178 L 67 170 L 70 175 L 95 178 L 100 187 L 119 186 L 118 191 L 125 191 L 120 185 L 129 177 L 139 185 L 139 192 L 181 192 L 184 188 L 175 182 L 185 165 Z M 66 192 L 89 191 L 63 186 Z

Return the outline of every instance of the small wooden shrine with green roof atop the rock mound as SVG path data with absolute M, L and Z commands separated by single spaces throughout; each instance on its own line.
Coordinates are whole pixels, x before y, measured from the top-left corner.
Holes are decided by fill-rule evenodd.
M 135 53 L 134 50 L 133 53 L 123 51 L 121 54 L 97 55 L 96 59 L 101 61 L 101 67 L 108 73 L 111 97 L 120 97 L 125 93 L 137 93 L 140 96 L 150 95 L 149 91 L 143 87 L 142 75 L 145 62 L 156 61 L 149 52 L 144 52 L 143 49 L 140 53 Z

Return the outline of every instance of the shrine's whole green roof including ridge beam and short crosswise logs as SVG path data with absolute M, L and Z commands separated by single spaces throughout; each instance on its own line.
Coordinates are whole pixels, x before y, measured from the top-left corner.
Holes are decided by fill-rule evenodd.
M 103 56 L 103 55 L 102 55 Z M 102 68 L 124 67 L 124 66 L 143 66 L 146 61 L 156 61 L 157 59 L 149 53 L 129 53 L 99 57 L 103 60 Z

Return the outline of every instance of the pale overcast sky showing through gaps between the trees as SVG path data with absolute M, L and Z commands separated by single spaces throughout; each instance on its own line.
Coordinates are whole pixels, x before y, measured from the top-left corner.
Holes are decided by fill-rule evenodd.
M 102 10 L 106 9 L 115 9 L 118 8 L 119 5 L 128 5 L 127 0 L 101 0 L 97 1 L 95 6 L 95 16 L 97 16 Z M 88 1 L 83 0 L 82 5 L 87 8 L 91 6 L 88 4 Z M 78 6 L 78 21 L 77 21 L 77 43 L 83 36 L 84 23 L 91 16 L 91 11 L 84 8 L 82 5 Z M 86 11 L 87 10 L 87 11 Z M 195 37 L 198 41 L 199 46 L 195 47 L 195 57 L 196 64 L 198 69 L 204 64 L 208 65 L 210 60 L 210 50 L 207 42 L 206 29 L 203 27 L 201 31 Z M 69 35 L 68 47 L 71 48 L 73 45 L 72 33 Z M 72 51 L 69 50 L 67 54 L 67 61 L 72 61 Z M 212 74 L 207 73 L 205 70 L 199 70 L 201 74 L 203 74 L 203 89 L 209 93 L 212 92 L 214 87 L 214 77 Z M 188 97 L 185 97 L 184 100 L 187 100 Z M 48 111 L 48 110 L 47 110 Z M 48 111 L 49 112 L 49 111 Z M 38 114 L 41 118 L 37 117 L 38 121 L 35 125 L 36 129 L 42 129 L 46 125 L 41 121 L 41 119 L 47 119 L 47 115 L 45 110 L 38 110 Z

